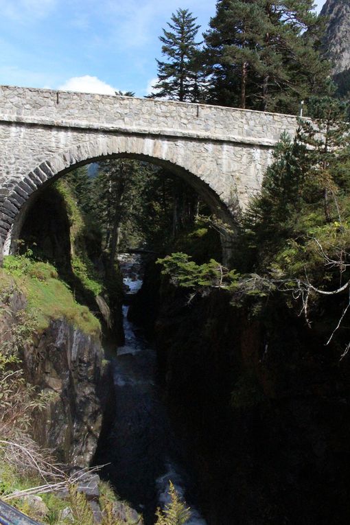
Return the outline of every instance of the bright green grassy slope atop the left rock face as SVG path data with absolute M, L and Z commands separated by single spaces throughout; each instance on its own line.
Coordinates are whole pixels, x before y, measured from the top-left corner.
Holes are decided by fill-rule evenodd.
M 100 322 L 89 308 L 79 305 L 66 283 L 58 279 L 54 266 L 32 261 L 24 255 L 9 255 L 3 261 L 0 283 L 12 277 L 27 298 L 27 310 L 36 315 L 38 328 L 45 329 L 50 320 L 65 318 L 85 334 L 100 332 Z

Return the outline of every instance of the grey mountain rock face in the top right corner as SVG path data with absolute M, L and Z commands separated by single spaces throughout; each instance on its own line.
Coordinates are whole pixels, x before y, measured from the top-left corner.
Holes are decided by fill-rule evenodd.
M 350 68 L 350 3 L 349 0 L 327 0 L 322 16 L 327 16 L 323 48 L 333 63 L 334 75 Z

